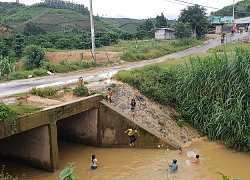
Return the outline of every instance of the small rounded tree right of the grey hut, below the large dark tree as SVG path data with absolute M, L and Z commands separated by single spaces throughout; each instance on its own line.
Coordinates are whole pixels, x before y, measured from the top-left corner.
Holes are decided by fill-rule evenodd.
M 189 23 L 177 22 L 175 24 L 175 32 L 174 35 L 176 38 L 190 38 L 191 37 L 191 29 Z

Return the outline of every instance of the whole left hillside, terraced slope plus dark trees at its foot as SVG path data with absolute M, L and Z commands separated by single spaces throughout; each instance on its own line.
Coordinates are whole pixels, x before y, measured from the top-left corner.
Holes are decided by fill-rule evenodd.
M 62 0 L 45 0 L 31 6 L 0 2 L 0 55 L 11 49 L 21 56 L 28 45 L 53 49 L 90 49 L 89 10 L 84 5 Z M 131 39 L 132 34 L 94 17 L 96 47 Z M 17 47 L 16 47 L 17 46 Z M 4 50 L 5 49 L 5 50 Z

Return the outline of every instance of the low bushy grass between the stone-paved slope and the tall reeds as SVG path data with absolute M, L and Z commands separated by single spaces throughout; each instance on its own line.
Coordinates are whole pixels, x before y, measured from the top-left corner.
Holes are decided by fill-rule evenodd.
M 148 98 L 164 105 L 173 105 L 174 86 L 176 80 L 175 69 L 165 69 L 161 64 L 149 65 L 132 71 L 120 71 L 114 77 L 117 80 L 128 83 Z

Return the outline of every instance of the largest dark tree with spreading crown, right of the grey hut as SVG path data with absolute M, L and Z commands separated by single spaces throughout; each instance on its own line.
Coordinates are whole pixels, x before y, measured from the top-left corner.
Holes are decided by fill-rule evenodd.
M 208 31 L 209 21 L 206 17 L 206 9 L 199 5 L 189 6 L 181 10 L 178 21 L 189 23 L 193 33 L 202 37 Z

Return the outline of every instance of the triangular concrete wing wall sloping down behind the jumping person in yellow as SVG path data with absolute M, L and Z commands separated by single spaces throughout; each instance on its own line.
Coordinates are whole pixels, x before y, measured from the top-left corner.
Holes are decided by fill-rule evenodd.
M 129 147 L 130 139 L 124 131 L 135 126 L 141 136 L 134 147 L 158 148 L 158 145 L 164 144 L 164 148 L 177 148 L 174 144 L 166 143 L 161 137 L 155 136 L 152 133 L 154 130 L 146 129 L 144 125 L 132 122 L 128 115 L 106 101 L 101 101 L 99 112 L 100 147 Z

